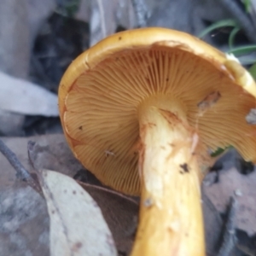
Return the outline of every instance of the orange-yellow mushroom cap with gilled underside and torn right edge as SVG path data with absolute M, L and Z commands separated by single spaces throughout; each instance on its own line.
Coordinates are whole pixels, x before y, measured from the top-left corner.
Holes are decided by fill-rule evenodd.
M 184 32 L 141 28 L 103 39 L 73 61 L 59 88 L 73 154 L 104 184 L 138 195 L 137 109 L 154 94 L 175 97 L 202 145 L 234 146 L 256 162 L 256 85 L 236 59 Z

